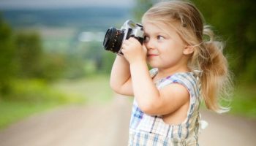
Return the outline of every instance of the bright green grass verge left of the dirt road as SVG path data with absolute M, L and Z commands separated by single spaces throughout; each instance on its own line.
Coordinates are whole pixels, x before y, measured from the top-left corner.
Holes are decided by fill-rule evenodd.
M 12 93 L 0 98 L 0 129 L 53 107 L 85 101 L 86 97 L 61 93 L 42 80 L 15 80 L 12 82 Z

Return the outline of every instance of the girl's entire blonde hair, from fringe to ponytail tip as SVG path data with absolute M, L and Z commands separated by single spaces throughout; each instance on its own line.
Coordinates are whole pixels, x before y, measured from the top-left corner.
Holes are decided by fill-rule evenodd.
M 202 70 L 201 93 L 206 107 L 215 112 L 226 112 L 219 99 L 228 99 L 232 80 L 227 59 L 222 50 L 224 43 L 214 37 L 210 26 L 204 25 L 203 15 L 189 1 L 162 1 L 148 9 L 142 22 L 162 23 L 175 28 L 184 42 L 195 48 L 189 59 L 190 69 Z

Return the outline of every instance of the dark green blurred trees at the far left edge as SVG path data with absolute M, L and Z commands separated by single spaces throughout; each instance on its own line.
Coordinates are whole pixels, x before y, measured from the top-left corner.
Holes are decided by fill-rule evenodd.
M 10 92 L 10 82 L 18 78 L 52 80 L 64 64 L 61 56 L 53 59 L 44 53 L 37 32 L 14 33 L 0 18 L 0 93 Z M 50 74 L 49 74 L 50 72 Z

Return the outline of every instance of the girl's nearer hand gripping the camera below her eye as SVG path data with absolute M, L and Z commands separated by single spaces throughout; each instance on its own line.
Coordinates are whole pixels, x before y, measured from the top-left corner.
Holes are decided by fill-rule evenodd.
M 127 59 L 129 64 L 138 61 L 146 61 L 146 47 L 142 46 L 134 37 L 124 40 L 121 52 L 124 54 L 124 58 Z

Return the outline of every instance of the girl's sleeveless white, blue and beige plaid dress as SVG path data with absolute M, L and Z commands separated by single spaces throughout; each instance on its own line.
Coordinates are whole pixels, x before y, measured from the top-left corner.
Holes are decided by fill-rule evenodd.
M 151 69 L 151 77 L 157 69 Z M 170 125 L 162 120 L 161 115 L 146 115 L 133 101 L 132 116 L 129 125 L 129 146 L 180 146 L 198 145 L 200 83 L 199 72 L 176 73 L 155 83 L 158 89 L 171 83 L 180 83 L 190 94 L 189 110 L 183 123 Z

